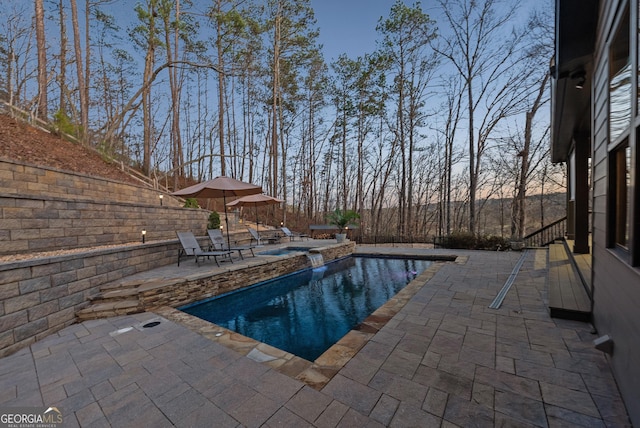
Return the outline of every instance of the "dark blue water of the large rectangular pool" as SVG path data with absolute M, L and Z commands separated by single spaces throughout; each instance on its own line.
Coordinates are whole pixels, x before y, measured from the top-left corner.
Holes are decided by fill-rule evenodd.
M 314 361 L 430 264 L 348 257 L 180 309 Z

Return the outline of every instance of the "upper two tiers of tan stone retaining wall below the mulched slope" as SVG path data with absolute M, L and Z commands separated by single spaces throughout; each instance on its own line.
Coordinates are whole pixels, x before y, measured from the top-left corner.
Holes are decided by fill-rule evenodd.
M 0 255 L 204 234 L 209 211 L 142 186 L 0 160 Z

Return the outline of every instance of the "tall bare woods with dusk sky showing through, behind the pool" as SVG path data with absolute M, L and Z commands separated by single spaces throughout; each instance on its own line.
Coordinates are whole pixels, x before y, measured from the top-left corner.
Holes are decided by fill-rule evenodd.
M 563 190 L 548 3 L 398 0 L 375 51 L 329 62 L 310 0 L 3 2 L 0 99 L 170 188 L 259 184 L 281 221 L 480 234 L 500 199 L 518 238 L 527 197 Z

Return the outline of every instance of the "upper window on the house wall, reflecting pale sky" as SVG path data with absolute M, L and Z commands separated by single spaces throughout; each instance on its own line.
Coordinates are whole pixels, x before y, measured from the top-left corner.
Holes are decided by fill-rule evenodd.
M 629 9 L 620 20 L 609 45 L 609 138 L 615 142 L 631 123 L 631 58 Z

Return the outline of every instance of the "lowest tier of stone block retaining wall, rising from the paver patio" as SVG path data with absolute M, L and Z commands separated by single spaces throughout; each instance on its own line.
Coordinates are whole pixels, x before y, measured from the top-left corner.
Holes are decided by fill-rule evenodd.
M 173 240 L 0 264 L 0 357 L 73 324 L 101 285 L 177 254 Z

